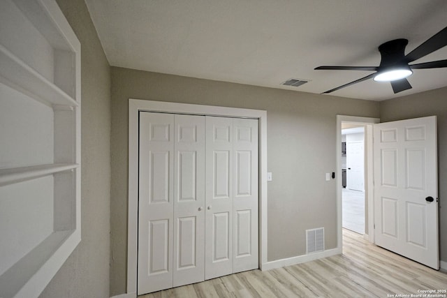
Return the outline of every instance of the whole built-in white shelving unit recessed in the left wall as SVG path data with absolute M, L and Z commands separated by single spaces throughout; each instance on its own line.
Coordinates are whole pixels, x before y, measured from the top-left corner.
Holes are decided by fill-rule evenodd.
M 80 43 L 55 0 L 0 28 L 0 297 L 38 297 L 80 243 Z

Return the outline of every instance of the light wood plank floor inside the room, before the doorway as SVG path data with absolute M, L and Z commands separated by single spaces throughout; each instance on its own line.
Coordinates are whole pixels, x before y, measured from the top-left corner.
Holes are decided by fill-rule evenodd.
M 140 298 L 411 297 L 420 294 L 418 290 L 447 290 L 443 272 L 390 253 L 349 230 L 343 231 L 343 241 L 343 255 L 270 271 L 245 271 Z

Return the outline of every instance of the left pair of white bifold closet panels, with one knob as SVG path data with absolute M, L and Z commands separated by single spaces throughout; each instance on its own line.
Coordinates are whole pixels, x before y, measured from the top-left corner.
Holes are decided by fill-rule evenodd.
M 203 281 L 205 117 L 140 112 L 138 295 Z

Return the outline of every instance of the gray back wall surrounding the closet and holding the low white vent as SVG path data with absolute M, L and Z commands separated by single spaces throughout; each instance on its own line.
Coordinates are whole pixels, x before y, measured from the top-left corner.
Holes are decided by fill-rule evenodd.
M 267 110 L 268 260 L 305 254 L 305 230 L 337 246 L 336 115 L 379 117 L 379 103 L 112 67 L 110 295 L 126 292 L 128 100 Z

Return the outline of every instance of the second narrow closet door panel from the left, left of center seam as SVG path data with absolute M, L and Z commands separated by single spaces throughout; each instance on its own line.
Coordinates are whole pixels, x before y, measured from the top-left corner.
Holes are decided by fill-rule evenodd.
M 205 117 L 175 115 L 173 286 L 205 278 Z

